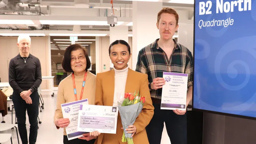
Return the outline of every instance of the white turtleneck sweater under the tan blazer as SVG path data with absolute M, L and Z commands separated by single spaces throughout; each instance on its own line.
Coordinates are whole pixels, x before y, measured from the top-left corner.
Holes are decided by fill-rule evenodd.
M 128 68 L 129 66 L 125 69 L 122 70 L 117 70 L 114 66 L 114 71 L 115 71 L 115 90 L 114 90 L 114 101 L 113 101 L 113 106 L 117 106 L 117 101 L 121 97 L 124 97 L 124 91 L 125 91 L 125 84 L 126 84 L 126 79 L 127 79 L 127 74 L 128 74 Z M 117 94 L 119 93 L 119 94 Z

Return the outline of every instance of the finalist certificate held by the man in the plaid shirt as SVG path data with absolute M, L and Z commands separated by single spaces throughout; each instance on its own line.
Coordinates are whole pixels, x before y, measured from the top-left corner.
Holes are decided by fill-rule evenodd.
M 186 110 L 188 74 L 163 72 L 161 109 Z

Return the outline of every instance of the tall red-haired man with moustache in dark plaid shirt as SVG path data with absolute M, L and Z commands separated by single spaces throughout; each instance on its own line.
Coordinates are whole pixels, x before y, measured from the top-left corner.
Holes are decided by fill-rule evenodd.
M 192 99 L 193 66 L 191 52 L 172 39 L 178 29 L 179 15 L 174 9 L 163 8 L 158 13 L 157 28 L 160 39 L 139 51 L 136 71 L 148 74 L 151 99 L 155 107 L 154 116 L 146 127 L 150 144 L 160 144 L 165 122 L 172 144 L 187 143 L 186 111 L 161 110 L 162 85 L 165 84 L 163 72 L 188 74 L 186 106 Z

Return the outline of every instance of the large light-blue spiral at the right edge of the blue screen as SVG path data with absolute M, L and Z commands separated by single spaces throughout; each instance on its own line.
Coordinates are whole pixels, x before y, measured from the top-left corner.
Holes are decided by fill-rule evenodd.
M 245 51 L 248 54 L 250 54 L 252 57 L 254 57 L 254 61 L 256 61 L 256 36 L 250 36 L 250 37 L 242 37 L 242 38 L 238 38 L 235 40 L 232 40 L 228 43 L 226 43 L 218 52 L 218 54 L 216 55 L 216 59 L 215 59 L 215 74 L 216 74 L 216 78 L 219 81 L 219 83 L 226 89 L 228 90 L 240 90 L 242 88 L 244 88 L 246 86 L 246 84 L 249 81 L 250 78 L 250 68 L 248 66 L 248 64 L 245 62 L 245 60 L 247 59 L 246 57 L 241 59 L 241 60 L 231 60 L 229 59 L 229 62 L 224 62 L 223 59 L 226 55 L 228 55 L 228 53 L 239 50 L 239 51 Z M 251 43 L 250 45 L 255 45 L 255 47 L 245 47 L 244 43 Z M 253 44 L 255 43 L 255 44 Z M 235 45 L 235 46 L 234 46 Z M 233 57 L 236 58 L 236 57 Z M 232 58 L 232 59 L 233 59 Z M 227 69 L 224 70 L 223 68 L 221 69 L 221 65 L 222 63 L 228 63 L 228 66 L 226 67 Z M 240 64 L 244 67 L 245 72 L 241 72 L 241 69 L 235 69 L 234 65 L 236 64 Z M 239 71 L 240 70 L 240 71 Z M 236 82 L 236 77 L 238 73 L 243 73 L 245 74 L 245 79 L 243 82 L 241 82 L 238 85 L 230 85 L 227 84 L 221 74 L 228 74 L 228 77 L 230 79 L 232 79 L 232 81 Z

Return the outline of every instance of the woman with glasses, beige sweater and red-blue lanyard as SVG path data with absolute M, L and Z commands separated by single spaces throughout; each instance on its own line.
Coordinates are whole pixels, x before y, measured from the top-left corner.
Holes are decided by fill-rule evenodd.
M 84 47 L 78 44 L 67 47 L 62 60 L 62 67 L 66 72 L 72 72 L 72 74 L 59 83 L 54 114 L 54 124 L 57 129 L 64 129 L 64 144 L 93 144 L 95 142 L 96 137 L 90 136 L 89 133 L 83 134 L 83 137 L 68 140 L 65 128 L 70 124 L 70 119 L 63 118 L 61 110 L 61 104 L 76 100 L 88 99 L 89 104 L 95 103 L 96 76 L 88 70 L 90 66 L 91 62 Z M 76 94 L 74 89 L 76 89 Z M 83 93 L 81 94 L 82 90 Z

